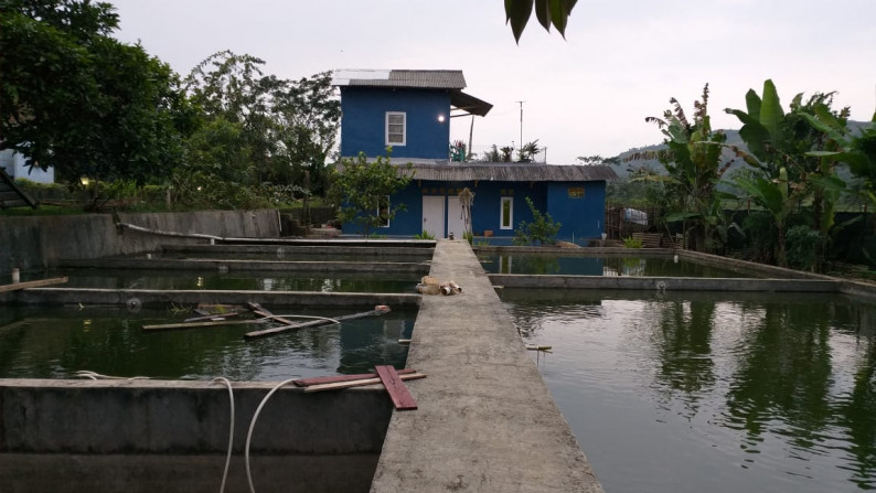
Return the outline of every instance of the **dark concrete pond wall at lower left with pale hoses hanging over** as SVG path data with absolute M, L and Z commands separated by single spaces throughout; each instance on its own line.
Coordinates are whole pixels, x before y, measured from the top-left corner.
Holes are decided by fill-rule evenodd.
M 275 385 L 233 384 L 226 491 L 248 491 L 246 436 Z M 252 437 L 256 491 L 368 491 L 392 410 L 383 389 L 276 392 Z M 0 491 L 215 492 L 229 419 L 221 383 L 0 379 Z

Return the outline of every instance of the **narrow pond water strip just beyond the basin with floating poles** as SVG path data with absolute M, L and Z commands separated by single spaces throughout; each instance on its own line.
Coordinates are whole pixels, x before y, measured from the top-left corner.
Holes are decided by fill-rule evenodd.
M 43 277 L 68 277 L 57 287 L 88 289 L 415 292 L 420 276 L 405 272 L 265 272 L 157 269 L 61 269 Z M 22 279 L 28 280 L 28 279 Z

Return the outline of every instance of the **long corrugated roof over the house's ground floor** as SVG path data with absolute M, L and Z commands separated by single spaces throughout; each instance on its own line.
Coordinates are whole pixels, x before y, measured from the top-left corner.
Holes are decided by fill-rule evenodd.
M 415 180 L 429 181 L 505 181 L 505 182 L 587 182 L 617 180 L 618 175 L 606 165 L 557 165 L 533 163 L 414 163 L 408 171 Z

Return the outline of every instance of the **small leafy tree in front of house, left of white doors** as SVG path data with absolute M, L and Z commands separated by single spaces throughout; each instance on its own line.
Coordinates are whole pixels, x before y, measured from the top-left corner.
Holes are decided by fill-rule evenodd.
M 339 205 L 338 219 L 362 226 L 362 235 L 395 218 L 405 204 L 393 203 L 391 196 L 410 183 L 413 173 L 399 173 L 399 168 L 386 157 L 368 162 L 364 153 L 355 159 L 343 158 L 331 170 L 329 195 Z M 409 171 L 413 164 L 407 164 Z

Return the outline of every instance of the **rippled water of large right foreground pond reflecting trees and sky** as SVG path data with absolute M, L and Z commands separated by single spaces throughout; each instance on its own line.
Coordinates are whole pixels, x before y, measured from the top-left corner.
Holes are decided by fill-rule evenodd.
M 876 307 L 841 296 L 508 291 L 611 493 L 876 489 Z

